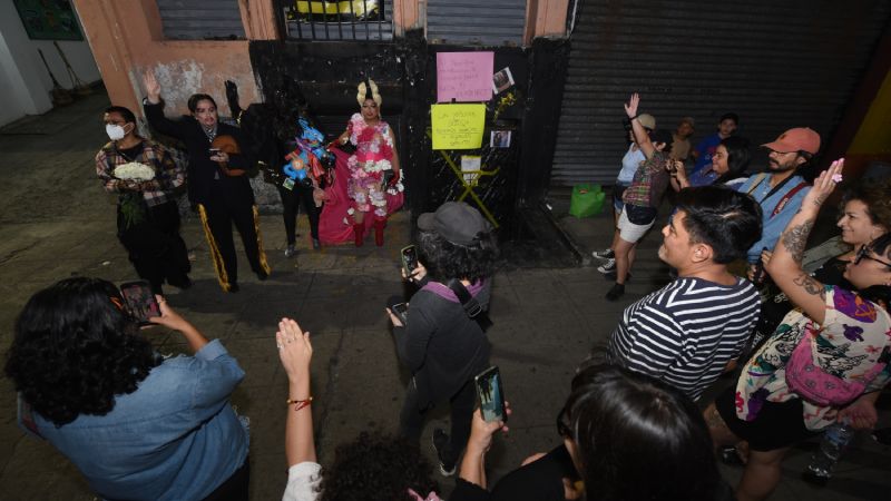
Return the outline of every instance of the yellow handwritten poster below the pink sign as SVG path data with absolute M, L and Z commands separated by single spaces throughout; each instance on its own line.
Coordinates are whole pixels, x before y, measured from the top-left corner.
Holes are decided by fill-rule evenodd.
M 433 149 L 477 149 L 482 146 L 486 105 L 432 105 Z

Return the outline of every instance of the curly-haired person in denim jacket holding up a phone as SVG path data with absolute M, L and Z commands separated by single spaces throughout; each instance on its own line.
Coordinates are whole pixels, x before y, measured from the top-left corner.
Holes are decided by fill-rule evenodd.
M 156 298 L 149 321 L 193 356 L 156 353 L 114 284 L 77 277 L 28 301 L 6 374 L 101 499 L 247 500 L 248 432 L 229 405 L 244 371 Z

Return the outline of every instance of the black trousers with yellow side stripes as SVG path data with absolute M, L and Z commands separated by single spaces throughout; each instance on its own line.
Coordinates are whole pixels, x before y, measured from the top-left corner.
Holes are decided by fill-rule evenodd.
M 232 284 L 238 283 L 238 259 L 235 256 L 235 242 L 232 237 L 233 224 L 242 236 L 251 269 L 254 273 L 268 274 L 270 267 L 263 250 L 260 220 L 253 200 L 242 199 L 243 197 L 234 196 L 216 185 L 210 189 L 207 203 L 199 205 L 199 210 L 219 285 L 224 291 L 228 291 Z

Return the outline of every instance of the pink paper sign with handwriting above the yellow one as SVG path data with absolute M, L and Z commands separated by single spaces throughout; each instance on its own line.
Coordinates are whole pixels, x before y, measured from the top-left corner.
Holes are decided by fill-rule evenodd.
M 495 52 L 437 53 L 437 102 L 488 101 L 493 67 Z

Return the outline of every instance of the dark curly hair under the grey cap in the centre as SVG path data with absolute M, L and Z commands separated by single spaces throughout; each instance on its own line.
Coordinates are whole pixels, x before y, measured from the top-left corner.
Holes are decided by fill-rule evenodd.
M 420 232 L 418 252 L 430 278 L 443 283 L 490 277 L 498 261 L 498 243 L 491 232 L 480 233 L 473 245 L 452 244 L 437 233 Z

